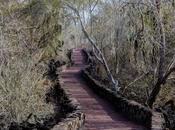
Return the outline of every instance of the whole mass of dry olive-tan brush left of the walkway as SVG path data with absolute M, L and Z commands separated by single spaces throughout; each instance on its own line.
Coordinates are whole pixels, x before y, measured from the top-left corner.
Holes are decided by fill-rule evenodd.
M 54 106 L 45 103 L 49 88 L 43 84 L 42 61 L 56 55 L 60 30 L 54 30 L 59 24 L 52 16 L 52 5 L 47 8 L 43 2 L 0 3 L 0 129 L 26 120 L 31 113 L 44 117 L 54 112 Z M 40 42 L 48 32 L 53 36 Z

